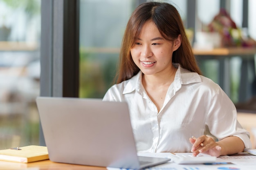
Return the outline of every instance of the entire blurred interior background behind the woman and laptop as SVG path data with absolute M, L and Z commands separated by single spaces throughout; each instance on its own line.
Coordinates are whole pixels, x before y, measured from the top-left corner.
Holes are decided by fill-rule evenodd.
M 0 0 L 0 149 L 43 143 L 37 96 L 103 97 L 113 84 L 128 18 L 143 2 Z M 236 104 L 255 148 L 256 1 L 165 2 L 179 10 L 203 75 Z M 74 38 L 77 44 L 69 41 Z M 69 48 L 78 52 L 70 53 Z M 70 73 L 71 63 L 65 58 L 77 62 L 71 69 L 78 73 Z M 66 77 L 78 82 L 71 95 Z

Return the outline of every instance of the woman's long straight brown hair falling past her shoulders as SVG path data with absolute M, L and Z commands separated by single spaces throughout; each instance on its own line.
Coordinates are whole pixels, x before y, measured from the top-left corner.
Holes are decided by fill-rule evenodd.
M 130 79 L 139 72 L 139 67 L 132 60 L 130 49 L 138 39 L 142 26 L 148 20 L 152 20 L 155 23 L 166 40 L 173 41 L 178 35 L 181 35 L 182 44 L 173 52 L 172 62 L 179 63 L 182 68 L 201 75 L 177 9 L 165 2 L 146 2 L 139 5 L 128 20 L 121 44 L 116 83 Z

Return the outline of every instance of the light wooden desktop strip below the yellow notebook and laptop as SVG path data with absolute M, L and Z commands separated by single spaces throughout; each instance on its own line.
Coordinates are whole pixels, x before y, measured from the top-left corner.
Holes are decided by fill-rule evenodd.
M 55 163 L 48 160 L 31 163 L 0 161 L 0 170 L 107 170 L 104 167 L 82 166 L 66 163 Z

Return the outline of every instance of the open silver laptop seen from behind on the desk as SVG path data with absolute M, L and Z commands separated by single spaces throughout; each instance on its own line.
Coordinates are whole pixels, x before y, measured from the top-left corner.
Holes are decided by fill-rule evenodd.
M 51 161 L 143 169 L 170 160 L 137 156 L 126 102 L 37 97 L 36 103 Z

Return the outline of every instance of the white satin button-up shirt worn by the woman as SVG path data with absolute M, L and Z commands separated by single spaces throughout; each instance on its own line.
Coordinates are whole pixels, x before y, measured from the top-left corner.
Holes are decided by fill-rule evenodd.
M 245 148 L 252 147 L 249 132 L 237 121 L 233 102 L 211 79 L 178 66 L 158 113 L 141 77 L 139 72 L 113 85 L 103 98 L 128 103 L 138 152 L 190 152 L 189 138 L 207 134 L 218 140 L 237 136 Z

